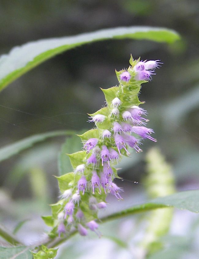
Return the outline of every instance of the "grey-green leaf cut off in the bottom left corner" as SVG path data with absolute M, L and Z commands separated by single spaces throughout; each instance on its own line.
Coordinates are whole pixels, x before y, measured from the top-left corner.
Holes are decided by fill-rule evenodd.
M 26 246 L 0 247 L 0 259 L 32 259 Z

